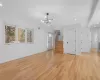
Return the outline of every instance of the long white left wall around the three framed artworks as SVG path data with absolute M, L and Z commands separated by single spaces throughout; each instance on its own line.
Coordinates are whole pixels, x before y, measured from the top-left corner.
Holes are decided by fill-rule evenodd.
M 16 27 L 22 28 L 34 28 L 34 43 L 15 43 L 6 45 L 4 43 L 4 25 L 12 24 Z M 28 22 L 14 18 L 1 18 L 0 20 L 0 63 L 22 58 L 39 52 L 47 50 L 47 33 L 52 31 L 49 28 L 45 28 L 44 25 L 38 30 L 38 25 L 31 25 Z M 43 28 L 42 28 L 43 27 Z

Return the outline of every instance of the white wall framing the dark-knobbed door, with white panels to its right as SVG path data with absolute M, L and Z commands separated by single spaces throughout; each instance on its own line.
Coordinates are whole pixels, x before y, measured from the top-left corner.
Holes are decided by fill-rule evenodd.
M 67 50 L 66 49 L 66 40 L 68 39 L 68 37 L 65 37 L 65 36 L 67 35 L 67 30 L 69 28 L 76 29 L 76 54 L 79 55 L 81 52 L 89 52 L 90 48 L 91 48 L 90 29 L 82 28 L 80 24 L 73 24 L 73 25 L 68 25 L 63 28 L 64 53 Z M 84 35 L 85 37 L 81 36 L 81 34 Z M 82 41 L 82 43 L 81 43 L 81 41 Z

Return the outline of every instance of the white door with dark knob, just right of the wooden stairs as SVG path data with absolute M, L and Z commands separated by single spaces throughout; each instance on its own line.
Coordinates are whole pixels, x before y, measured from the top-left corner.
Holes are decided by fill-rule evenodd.
M 68 29 L 66 38 L 67 53 L 76 54 L 76 29 Z

